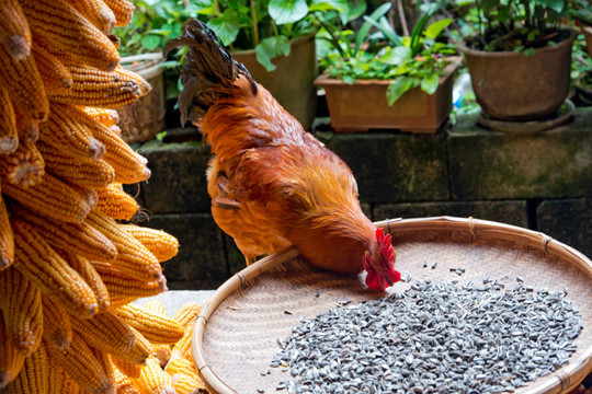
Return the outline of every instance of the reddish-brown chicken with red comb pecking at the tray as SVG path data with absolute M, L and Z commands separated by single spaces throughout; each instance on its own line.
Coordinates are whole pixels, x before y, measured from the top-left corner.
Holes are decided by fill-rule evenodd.
M 348 165 L 258 85 L 204 24 L 190 21 L 166 53 L 180 46 L 189 47 L 182 123 L 200 127 L 212 146 L 212 213 L 247 264 L 295 245 L 316 267 L 365 269 L 372 289 L 399 280 L 390 235 L 362 212 Z

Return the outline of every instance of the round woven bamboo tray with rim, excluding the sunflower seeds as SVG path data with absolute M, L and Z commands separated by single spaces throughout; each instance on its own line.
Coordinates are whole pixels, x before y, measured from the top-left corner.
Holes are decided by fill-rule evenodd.
M 568 364 L 516 394 L 568 393 L 592 371 L 592 262 L 583 254 L 543 233 L 473 218 L 397 219 L 376 225 L 392 234 L 396 268 L 412 277 L 389 292 L 405 290 L 414 279 L 457 279 L 462 285 L 494 278 L 512 288 L 516 276 L 535 289 L 568 288 L 567 299 L 583 317 L 578 350 Z M 458 276 L 451 267 L 466 271 Z M 213 393 L 287 393 L 275 386 L 289 378 L 289 370 L 271 368 L 271 374 L 261 375 L 280 350 L 277 338 L 285 339 L 300 316 L 316 316 L 339 300 L 384 296 L 367 290 L 363 275 L 344 277 L 310 267 L 294 248 L 269 256 L 230 278 L 204 305 L 194 325 L 195 363 Z

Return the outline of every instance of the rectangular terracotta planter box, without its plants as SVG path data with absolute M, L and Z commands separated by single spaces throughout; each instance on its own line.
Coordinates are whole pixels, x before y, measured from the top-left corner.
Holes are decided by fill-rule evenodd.
M 399 129 L 434 134 L 452 111 L 453 74 L 460 60 L 460 57 L 451 58 L 434 94 L 414 88 L 392 106 L 386 99 L 390 80 L 356 80 L 349 84 L 322 74 L 315 84 L 325 89 L 331 126 L 337 132 Z

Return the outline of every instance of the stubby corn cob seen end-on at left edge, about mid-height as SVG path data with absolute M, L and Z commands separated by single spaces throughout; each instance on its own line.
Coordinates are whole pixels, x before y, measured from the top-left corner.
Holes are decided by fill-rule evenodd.
M 0 155 L 0 169 L 7 181 L 20 187 L 35 186 L 45 175 L 45 162 L 35 143 L 22 141 L 16 151 Z

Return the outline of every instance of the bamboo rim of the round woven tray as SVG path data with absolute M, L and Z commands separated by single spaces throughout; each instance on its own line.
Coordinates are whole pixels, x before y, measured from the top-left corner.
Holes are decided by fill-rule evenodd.
M 524 245 L 542 250 L 545 254 L 553 254 L 568 259 L 582 269 L 592 279 L 592 260 L 576 248 L 559 242 L 551 236 L 512 224 L 451 216 L 386 219 L 376 221 L 377 228 L 390 234 L 397 231 L 439 230 L 465 231 L 471 235 L 471 242 L 477 237 L 492 237 L 508 241 L 517 241 Z M 278 253 L 269 255 L 257 263 L 246 267 L 224 282 L 207 300 L 202 312 L 197 315 L 192 333 L 192 354 L 203 383 L 210 393 L 238 394 L 209 368 L 203 350 L 203 338 L 208 318 L 215 313 L 220 303 L 235 290 L 240 290 L 244 283 L 264 271 L 299 256 L 296 247 L 292 246 Z M 554 372 L 540 383 L 524 392 L 524 394 L 559 394 L 568 393 L 592 372 L 592 346 L 577 360 L 569 362 L 560 371 Z

